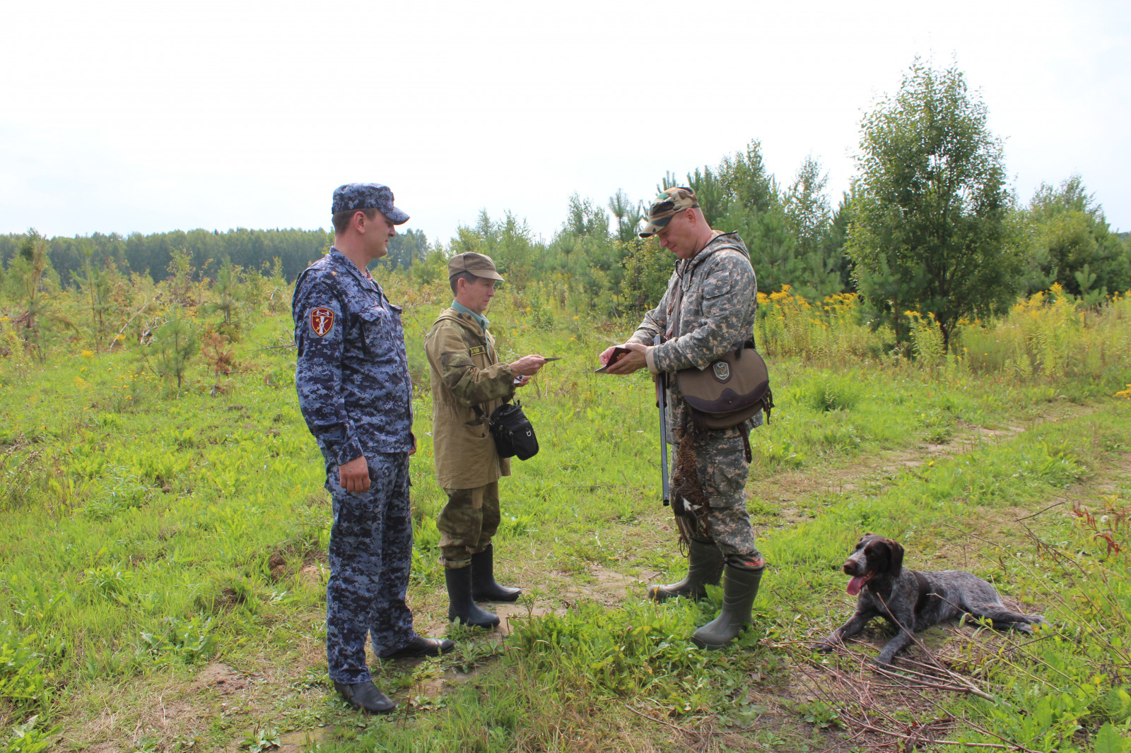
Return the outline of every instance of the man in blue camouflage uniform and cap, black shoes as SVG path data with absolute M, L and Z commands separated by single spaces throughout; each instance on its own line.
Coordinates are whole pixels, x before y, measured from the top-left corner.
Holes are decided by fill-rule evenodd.
M 412 381 L 400 308 L 369 274 L 408 215 L 392 191 L 348 183 L 334 191 L 334 246 L 295 284 L 295 387 L 326 459 L 334 503 L 326 654 L 334 687 L 351 706 L 385 713 L 396 704 L 373 684 L 365 635 L 382 658 L 450 651 L 417 635 L 405 603 L 412 561 L 408 507 Z

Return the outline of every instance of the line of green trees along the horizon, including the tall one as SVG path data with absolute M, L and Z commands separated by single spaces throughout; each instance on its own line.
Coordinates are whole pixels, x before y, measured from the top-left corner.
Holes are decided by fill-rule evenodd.
M 789 285 L 809 298 L 857 292 L 872 321 L 899 336 L 909 311 L 932 317 L 946 341 L 959 320 L 1000 313 L 1018 295 L 1053 285 L 1087 305 L 1131 289 L 1131 241 L 1112 232 L 1081 176 L 1044 183 L 1028 202 L 1011 191 L 986 106 L 956 67 L 910 66 L 899 90 L 863 118 L 856 170 L 834 206 L 819 159 L 806 157 L 779 183 L 754 140 L 683 179 L 667 173 L 657 192 L 690 185 L 713 227 L 739 231 L 759 289 Z M 645 211 L 646 201 L 622 191 L 605 202 L 575 194 L 547 241 L 511 213 L 484 210 L 447 243 L 415 230 L 398 234 L 374 266 L 431 283 L 451 254 L 480 251 L 512 285 L 536 284 L 561 304 L 606 315 L 637 313 L 659 297 L 673 268 L 655 239 L 637 236 Z M 156 282 L 175 276 L 179 263 L 214 280 L 241 270 L 293 280 L 331 242 L 321 228 L 52 239 L 29 231 L 0 235 L 0 284 L 28 300 L 33 271 L 36 285 L 81 286 L 92 270 Z M 37 271 L 33 246 L 43 249 Z

